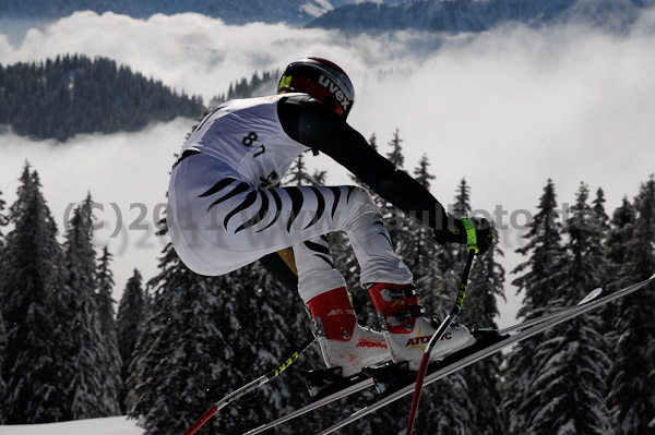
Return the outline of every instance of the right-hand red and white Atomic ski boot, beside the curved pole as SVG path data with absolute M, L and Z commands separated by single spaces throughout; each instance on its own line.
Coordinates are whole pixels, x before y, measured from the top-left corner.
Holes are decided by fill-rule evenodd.
M 425 309 L 418 301 L 414 285 L 379 282 L 369 288 L 369 295 L 380 318 L 386 345 L 394 362 L 407 362 L 408 370 L 417 371 L 422 354 L 439 328 L 439 324 L 424 317 Z M 464 325 L 453 324 L 441 337 L 430 361 L 442 360 L 450 353 L 471 346 L 474 336 Z

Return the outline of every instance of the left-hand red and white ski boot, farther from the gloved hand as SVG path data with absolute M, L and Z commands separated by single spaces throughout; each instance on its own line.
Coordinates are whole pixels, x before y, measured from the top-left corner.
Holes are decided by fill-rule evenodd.
M 334 372 L 341 377 L 391 360 L 384 336 L 357 324 L 345 287 L 319 294 L 307 305 L 317 327 L 323 360 L 327 367 L 338 368 Z

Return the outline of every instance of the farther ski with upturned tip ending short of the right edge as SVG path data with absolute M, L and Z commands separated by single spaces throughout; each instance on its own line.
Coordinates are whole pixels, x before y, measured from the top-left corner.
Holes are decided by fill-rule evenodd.
M 523 323 L 520 323 L 520 324 L 516 324 L 513 326 L 509 326 L 504 329 L 499 330 L 499 334 L 504 335 L 504 334 L 520 331 L 520 330 L 526 329 L 531 326 L 537 325 L 539 323 L 547 322 L 553 317 L 563 315 L 572 310 L 579 309 L 581 305 L 590 303 L 591 301 L 593 301 L 600 294 L 600 291 L 602 291 L 600 289 L 595 289 L 592 292 L 590 292 L 584 299 L 582 299 L 576 305 L 561 309 L 553 313 L 546 314 L 541 317 L 533 318 L 533 319 L 525 321 Z M 317 399 L 317 400 L 312 401 L 311 403 L 308 403 L 307 406 L 299 408 L 296 411 L 293 411 L 291 413 L 288 413 L 288 414 L 285 414 L 285 415 L 278 418 L 277 420 L 274 420 L 270 423 L 263 424 L 263 425 L 258 426 L 249 432 L 246 432 L 243 435 L 254 435 L 254 434 L 262 433 L 264 431 L 269 431 L 273 427 L 276 427 L 281 424 L 291 421 L 300 415 L 303 415 L 308 412 L 314 411 L 314 410 L 322 408 L 329 403 L 332 403 L 335 400 L 343 399 L 355 392 L 358 392 L 358 391 L 365 390 L 369 387 L 372 387 L 373 385 L 374 385 L 374 380 L 372 378 L 361 377 L 359 382 L 353 383 L 352 385 L 349 385 L 348 387 L 346 387 L 342 390 L 335 391 L 329 396 Z

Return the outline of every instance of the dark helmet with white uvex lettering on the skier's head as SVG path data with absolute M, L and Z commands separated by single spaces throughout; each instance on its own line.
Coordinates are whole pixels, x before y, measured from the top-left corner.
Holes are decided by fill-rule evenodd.
M 309 94 L 344 120 L 355 102 L 355 87 L 345 71 L 321 58 L 302 58 L 289 63 L 279 77 L 277 90 Z

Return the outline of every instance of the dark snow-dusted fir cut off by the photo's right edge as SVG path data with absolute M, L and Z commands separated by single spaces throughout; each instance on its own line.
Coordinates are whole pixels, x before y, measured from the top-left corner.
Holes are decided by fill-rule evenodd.
M 655 271 L 655 178 L 643 183 L 634 198 L 632 237 L 626 245 L 623 267 L 619 271 L 631 282 L 648 278 Z M 624 212 L 627 220 L 630 212 Z M 626 226 L 628 228 L 628 226 Z M 623 235 L 628 235 L 626 231 Z M 617 310 L 614 376 L 609 404 L 616 415 L 618 435 L 653 434 L 655 415 L 655 288 L 653 285 L 624 298 Z

